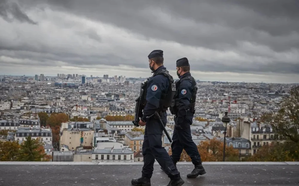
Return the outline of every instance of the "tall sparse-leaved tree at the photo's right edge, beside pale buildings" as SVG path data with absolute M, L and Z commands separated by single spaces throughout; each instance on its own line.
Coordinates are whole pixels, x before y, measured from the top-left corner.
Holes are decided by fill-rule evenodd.
M 265 113 L 260 121 L 269 123 L 278 135 L 299 144 L 299 86 L 292 87 L 277 113 Z

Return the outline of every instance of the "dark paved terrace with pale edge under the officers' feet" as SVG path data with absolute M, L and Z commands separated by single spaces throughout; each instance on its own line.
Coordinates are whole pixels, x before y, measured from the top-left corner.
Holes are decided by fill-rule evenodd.
M 197 185 L 299 185 L 299 162 L 205 162 L 207 173 L 186 177 L 190 162 L 179 162 L 186 186 Z M 141 175 L 142 162 L 0 162 L 2 186 L 127 186 Z M 167 185 L 169 179 L 155 163 L 152 185 Z

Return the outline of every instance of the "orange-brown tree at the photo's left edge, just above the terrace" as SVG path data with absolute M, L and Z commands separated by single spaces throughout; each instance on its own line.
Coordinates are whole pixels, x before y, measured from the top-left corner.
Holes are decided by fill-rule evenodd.
M 16 161 L 20 147 L 18 141 L 0 141 L 0 161 Z

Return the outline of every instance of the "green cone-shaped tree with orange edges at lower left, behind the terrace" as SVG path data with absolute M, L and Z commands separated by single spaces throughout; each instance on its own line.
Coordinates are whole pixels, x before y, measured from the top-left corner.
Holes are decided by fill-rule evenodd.
M 45 149 L 40 139 L 32 139 L 30 136 L 26 137 L 26 141 L 21 144 L 19 151 L 19 161 L 42 161 L 45 158 Z

